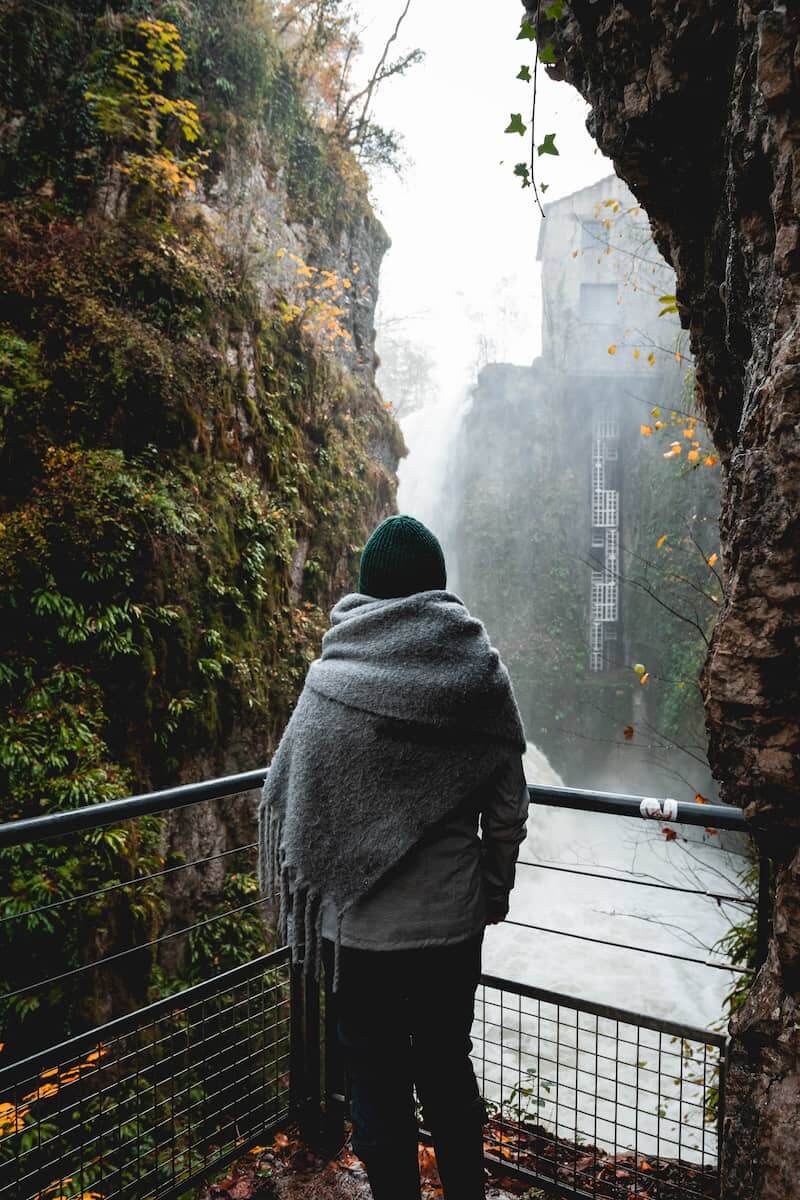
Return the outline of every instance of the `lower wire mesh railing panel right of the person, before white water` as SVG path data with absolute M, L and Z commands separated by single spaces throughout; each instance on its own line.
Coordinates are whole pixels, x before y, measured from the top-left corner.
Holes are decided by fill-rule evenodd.
M 726 1039 L 483 976 L 473 1061 L 489 1159 L 561 1195 L 718 1195 Z

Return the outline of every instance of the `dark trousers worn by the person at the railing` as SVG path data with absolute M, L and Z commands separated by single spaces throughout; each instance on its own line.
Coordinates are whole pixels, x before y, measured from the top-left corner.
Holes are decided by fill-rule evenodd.
M 420 1195 L 414 1087 L 446 1200 L 482 1200 L 486 1108 L 469 1057 L 483 934 L 414 950 L 341 948 L 333 997 L 353 1150 L 374 1200 Z M 333 943 L 323 940 L 325 970 Z

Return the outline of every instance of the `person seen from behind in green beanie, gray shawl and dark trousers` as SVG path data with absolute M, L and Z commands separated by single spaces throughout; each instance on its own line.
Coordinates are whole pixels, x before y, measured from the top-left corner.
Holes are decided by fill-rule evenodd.
M 498 652 L 446 582 L 421 522 L 378 526 L 259 806 L 281 935 L 332 974 L 374 1200 L 420 1198 L 415 1088 L 446 1200 L 485 1196 L 470 1028 L 485 926 L 507 912 L 525 836 L 525 738 Z

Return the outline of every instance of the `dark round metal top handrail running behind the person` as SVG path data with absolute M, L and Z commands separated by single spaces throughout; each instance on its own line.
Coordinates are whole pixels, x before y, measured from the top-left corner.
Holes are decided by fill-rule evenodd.
M 249 792 L 263 786 L 266 769 L 266 767 L 260 767 L 239 775 L 224 775 L 221 779 L 209 779 L 199 784 L 180 784 L 178 787 L 167 787 L 160 792 L 144 792 L 140 796 L 128 796 L 125 799 L 88 804 L 80 809 L 44 812 L 37 817 L 7 821 L 0 824 L 0 850 L 7 846 L 20 846 L 28 841 L 40 841 L 44 838 L 59 838 L 68 833 L 104 829 L 107 826 L 130 821 L 132 817 L 167 812 L 203 800 L 221 800 L 241 792 Z M 529 784 L 528 793 L 531 804 L 638 818 L 642 818 L 640 806 L 643 802 L 652 799 L 646 796 L 628 796 L 622 792 L 593 792 L 583 787 L 549 787 L 541 784 Z M 746 833 L 750 828 L 741 809 L 729 804 L 688 804 L 685 800 L 678 800 L 676 804 L 678 816 L 674 821 L 679 824 L 733 829 L 739 833 Z

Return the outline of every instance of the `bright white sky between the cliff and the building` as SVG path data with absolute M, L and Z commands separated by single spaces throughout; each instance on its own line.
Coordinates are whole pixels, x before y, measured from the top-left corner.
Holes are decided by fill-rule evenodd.
M 365 66 L 378 58 L 402 0 L 355 0 L 365 26 Z M 529 121 L 531 42 L 517 41 L 519 0 L 411 0 L 398 53 L 420 47 L 425 61 L 378 95 L 374 116 L 404 138 L 402 178 L 381 172 L 373 193 L 392 239 L 381 272 L 380 319 L 408 318 L 407 336 L 427 346 L 443 391 L 471 382 L 480 335 L 497 358 L 529 362 L 540 349 L 536 238 L 540 216 L 513 164 L 528 136 L 504 133 L 512 112 Z M 555 131 L 558 158 L 540 178 L 555 199 L 613 168 L 585 130 L 587 104 L 540 67 L 536 134 Z M 380 349 L 380 342 L 378 343 Z

